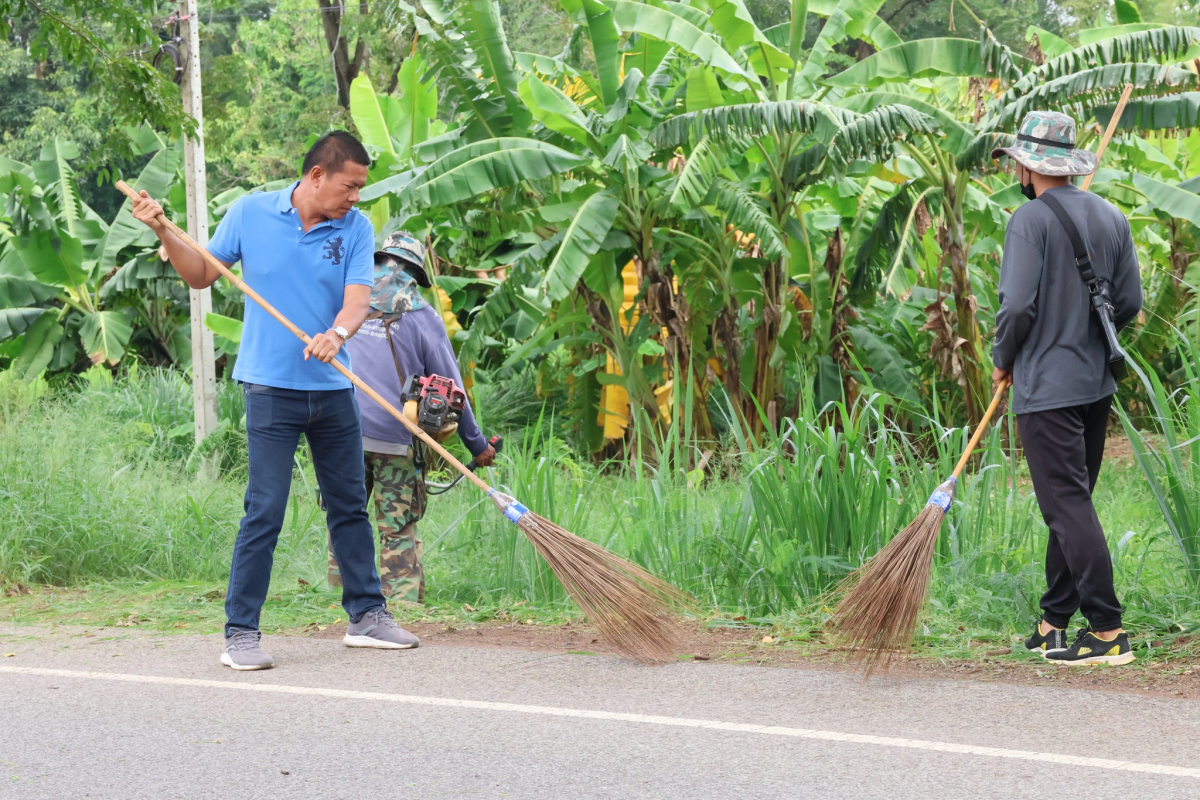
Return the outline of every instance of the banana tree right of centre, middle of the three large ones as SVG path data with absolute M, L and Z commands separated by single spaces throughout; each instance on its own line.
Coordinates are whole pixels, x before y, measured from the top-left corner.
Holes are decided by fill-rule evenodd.
M 809 198 L 815 187 L 859 169 L 854 162 L 889 157 L 896 139 L 931 134 L 938 127 L 934 119 L 904 106 L 878 106 L 858 113 L 822 101 L 829 91 L 822 85 L 822 76 L 836 44 L 857 37 L 877 43 L 899 41 L 876 17 L 880 5 L 871 0 L 814 4 L 814 12 L 828 20 L 805 55 L 802 46 L 806 4 L 794 2 L 791 22 L 769 31 L 760 31 L 748 13 L 734 13 L 732 8 L 744 12 L 740 4 L 710 4 L 712 14 L 703 20 L 707 30 L 737 46 L 737 56 L 757 79 L 742 86 L 726 76 L 692 73 L 686 112 L 665 120 L 654 132 L 659 148 L 679 148 L 690 161 L 702 163 L 710 161 L 713 143 L 737 142 L 749 149 L 749 168 L 737 181 L 742 206 L 749 215 L 755 204 L 761 204 L 764 212 L 757 224 L 746 229 L 760 239 L 769 229 L 779 242 L 778 251 L 767 253 L 750 325 L 754 362 L 745 411 L 760 427 L 763 409 L 782 399 L 780 375 L 785 360 L 800 353 L 802 311 L 788 301 L 792 278 L 803 279 L 812 295 L 805 296 L 811 308 L 803 313 L 821 331 L 812 341 L 827 347 L 824 353 L 815 354 L 818 360 L 829 349 L 841 353 L 847 347 L 844 326 L 838 321 L 844 308 L 838 301 L 839 288 L 834 287 L 828 296 L 821 294 L 830 272 L 839 279 L 842 234 L 832 230 L 824 235 L 810 228 Z M 738 24 L 726 24 L 726 16 Z M 701 185 L 694 193 L 698 196 L 704 179 L 719 170 L 702 166 L 696 173 Z M 820 253 L 822 247 L 824 255 Z M 848 366 L 848 359 L 839 360 Z

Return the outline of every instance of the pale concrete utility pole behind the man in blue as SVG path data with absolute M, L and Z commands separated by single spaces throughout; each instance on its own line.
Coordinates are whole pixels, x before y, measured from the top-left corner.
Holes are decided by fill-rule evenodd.
M 204 173 L 204 100 L 200 94 L 200 20 L 196 0 L 180 1 L 180 17 L 187 30 L 184 68 L 184 110 L 196 120 L 196 137 L 184 138 L 184 175 L 187 188 L 187 235 L 202 247 L 209 242 L 209 186 Z M 192 409 L 196 441 L 199 444 L 217 427 L 217 377 L 214 363 L 212 331 L 204 318 L 212 312 L 212 291 L 191 289 L 192 299 Z

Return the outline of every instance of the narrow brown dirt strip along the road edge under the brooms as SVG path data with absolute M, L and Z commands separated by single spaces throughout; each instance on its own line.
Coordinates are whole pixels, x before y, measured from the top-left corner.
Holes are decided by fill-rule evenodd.
M 547 654 L 599 655 L 604 643 L 583 625 L 492 624 L 455 627 L 437 622 L 413 622 L 406 627 L 421 638 L 421 646 L 500 648 Z M 340 639 L 346 626 L 311 630 L 310 636 Z M 844 649 L 817 643 L 776 639 L 767 628 L 707 627 L 679 624 L 680 658 L 740 663 L 787 669 L 854 670 Z M 653 669 L 653 667 L 648 667 Z M 1036 686 L 1062 686 L 1142 696 L 1200 699 L 1200 661 L 1178 660 L 1132 667 L 1067 667 L 1052 664 L 1008 648 L 984 651 L 977 658 L 898 658 L 889 668 L 894 676 L 973 681 L 998 681 Z

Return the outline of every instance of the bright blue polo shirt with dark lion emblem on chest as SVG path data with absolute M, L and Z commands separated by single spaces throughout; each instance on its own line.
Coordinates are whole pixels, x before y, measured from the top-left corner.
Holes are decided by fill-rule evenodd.
M 234 203 L 209 241 L 209 252 L 227 264 L 241 261 L 241 277 L 266 302 L 313 336 L 328 331 L 342 309 L 346 287 L 371 285 L 374 228 L 358 209 L 326 219 L 307 233 L 292 192 L 256 192 Z M 350 366 L 343 348 L 337 360 Z M 277 389 L 348 389 L 328 363 L 304 360 L 304 343 L 253 300 L 246 300 L 234 380 Z

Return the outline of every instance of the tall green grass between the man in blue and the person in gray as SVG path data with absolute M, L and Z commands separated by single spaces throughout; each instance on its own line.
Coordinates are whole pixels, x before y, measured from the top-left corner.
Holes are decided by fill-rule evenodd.
M 683 401 L 683 423 L 665 433 L 641 420 L 632 447 L 641 457 L 602 468 L 581 463 L 539 423 L 499 459 L 494 477 L 540 513 L 703 602 L 756 615 L 810 602 L 874 554 L 949 475 L 968 434 L 934 422 L 935 433 L 925 434 L 932 441 L 918 441 L 888 423 L 878 396 L 834 407 L 835 421 L 806 403 L 799 419 L 762 443 L 732 426 L 725 455 L 732 477 L 721 479 L 697 469 L 706 453 L 690 439 L 690 399 Z M 1033 499 L 1018 489 L 1016 462 L 1001 434 L 991 432 L 958 493 L 938 581 L 944 604 L 956 602 L 955 587 L 1003 597 L 992 603 L 994 616 L 1028 610 L 1030 587 L 1040 579 L 1042 523 Z M 431 506 L 431 521 L 446 516 Z M 437 542 L 457 599 L 560 597 L 532 549 L 487 507 Z

